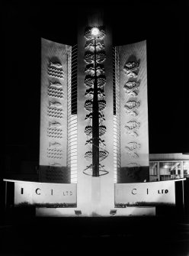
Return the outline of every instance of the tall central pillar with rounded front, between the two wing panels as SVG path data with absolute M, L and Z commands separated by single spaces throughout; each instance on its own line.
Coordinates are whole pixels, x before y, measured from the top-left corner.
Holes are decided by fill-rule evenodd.
M 114 207 L 113 119 L 111 28 L 96 12 L 78 24 L 78 206 L 89 215 Z

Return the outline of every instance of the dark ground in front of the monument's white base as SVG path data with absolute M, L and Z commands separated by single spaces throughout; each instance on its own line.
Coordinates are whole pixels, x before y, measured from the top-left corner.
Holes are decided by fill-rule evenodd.
M 0 255 L 188 256 L 187 217 L 5 219 Z

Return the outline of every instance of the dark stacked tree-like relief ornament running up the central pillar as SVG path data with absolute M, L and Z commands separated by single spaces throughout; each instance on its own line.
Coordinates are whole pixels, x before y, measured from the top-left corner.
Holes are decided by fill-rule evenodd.
M 96 79 L 98 83 L 98 117 L 99 117 L 99 160 L 100 162 L 104 160 L 108 152 L 106 151 L 106 144 L 103 138 L 104 134 L 106 133 L 106 126 L 104 125 L 105 117 L 104 117 L 104 109 L 106 108 L 106 100 L 105 100 L 105 92 L 104 86 L 106 84 L 106 76 L 105 76 L 105 69 L 104 69 L 104 61 L 106 60 L 106 53 L 105 53 L 105 46 L 104 46 L 104 37 L 105 31 L 103 28 L 99 29 L 99 34 L 95 37 L 95 47 L 94 48 L 94 35 L 91 34 L 92 28 L 85 29 L 85 55 L 84 60 L 86 63 L 85 66 L 85 134 L 86 134 L 86 152 L 85 152 L 85 159 L 90 162 L 88 166 L 85 168 L 83 173 L 87 175 L 92 175 L 92 118 L 93 118 L 93 96 L 94 96 L 94 75 L 96 70 Z M 94 51 L 96 49 L 96 51 Z M 94 56 L 95 54 L 95 56 Z M 96 60 L 96 63 L 94 61 Z M 94 70 L 95 68 L 95 70 Z M 107 174 L 107 170 L 103 164 L 99 165 L 100 176 Z

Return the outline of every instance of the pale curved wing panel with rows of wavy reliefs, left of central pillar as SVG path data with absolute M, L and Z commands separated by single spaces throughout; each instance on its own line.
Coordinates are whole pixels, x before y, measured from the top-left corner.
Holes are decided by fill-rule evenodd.
M 69 46 L 42 39 L 40 118 L 40 166 L 42 167 L 66 167 L 69 49 Z M 55 170 L 46 173 L 51 180 L 52 172 Z M 59 172 L 59 175 L 62 175 L 61 170 Z M 65 173 L 63 177 L 66 175 Z M 45 174 L 43 178 L 45 179 Z

